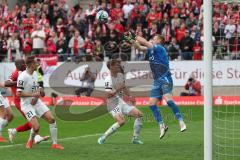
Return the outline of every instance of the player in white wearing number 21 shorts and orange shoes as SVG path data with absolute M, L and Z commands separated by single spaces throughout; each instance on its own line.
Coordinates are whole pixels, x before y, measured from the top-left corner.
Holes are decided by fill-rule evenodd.
M 49 108 L 39 99 L 45 93 L 38 87 L 38 75 L 36 69 L 38 63 L 35 57 L 28 57 L 26 60 L 27 69 L 23 71 L 17 80 L 17 96 L 21 98 L 21 110 L 32 125 L 32 137 L 29 139 L 27 148 L 32 148 L 32 143 L 41 138 L 38 135 L 39 122 L 37 117 L 41 117 L 49 123 L 50 135 L 52 138 L 52 149 L 64 149 L 57 143 L 57 125 Z

